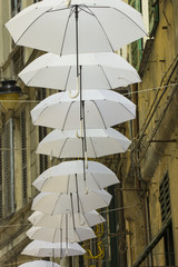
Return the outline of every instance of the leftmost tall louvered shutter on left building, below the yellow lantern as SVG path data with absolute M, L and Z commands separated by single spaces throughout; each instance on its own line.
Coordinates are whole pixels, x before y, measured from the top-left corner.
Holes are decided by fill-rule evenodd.
M 3 179 L 4 179 L 4 211 L 6 216 L 13 212 L 13 184 L 14 184 L 14 168 L 13 168 L 13 122 L 10 119 L 4 125 L 3 132 Z

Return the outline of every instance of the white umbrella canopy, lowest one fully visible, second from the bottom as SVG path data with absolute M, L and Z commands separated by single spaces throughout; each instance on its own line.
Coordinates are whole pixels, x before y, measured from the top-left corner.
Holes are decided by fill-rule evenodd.
M 83 255 L 86 250 L 77 243 L 48 243 L 33 240 L 23 250 L 22 255 L 34 257 L 66 257 Z

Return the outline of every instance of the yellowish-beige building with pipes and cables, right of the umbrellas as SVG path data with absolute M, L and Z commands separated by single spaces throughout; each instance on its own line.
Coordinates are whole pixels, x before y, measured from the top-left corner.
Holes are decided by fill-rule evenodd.
M 138 106 L 134 144 L 123 160 L 127 266 L 177 266 L 178 1 L 129 1 L 149 11 L 149 36 L 129 58 L 142 82 L 131 88 Z

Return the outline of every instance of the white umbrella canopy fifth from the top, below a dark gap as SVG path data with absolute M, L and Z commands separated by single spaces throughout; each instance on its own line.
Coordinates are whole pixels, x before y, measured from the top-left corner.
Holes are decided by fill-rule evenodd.
M 85 178 L 85 179 L 83 179 Z M 78 192 L 99 190 L 118 184 L 113 171 L 96 161 L 88 161 L 83 177 L 83 161 L 63 161 L 44 170 L 34 181 L 33 186 L 39 191 L 50 192 Z

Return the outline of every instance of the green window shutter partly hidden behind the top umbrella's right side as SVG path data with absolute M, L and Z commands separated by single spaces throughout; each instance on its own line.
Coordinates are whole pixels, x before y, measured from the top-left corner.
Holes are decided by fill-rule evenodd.
M 129 0 L 129 4 L 141 12 L 141 0 Z M 142 57 L 142 40 L 135 41 L 130 44 L 131 65 L 138 70 Z

